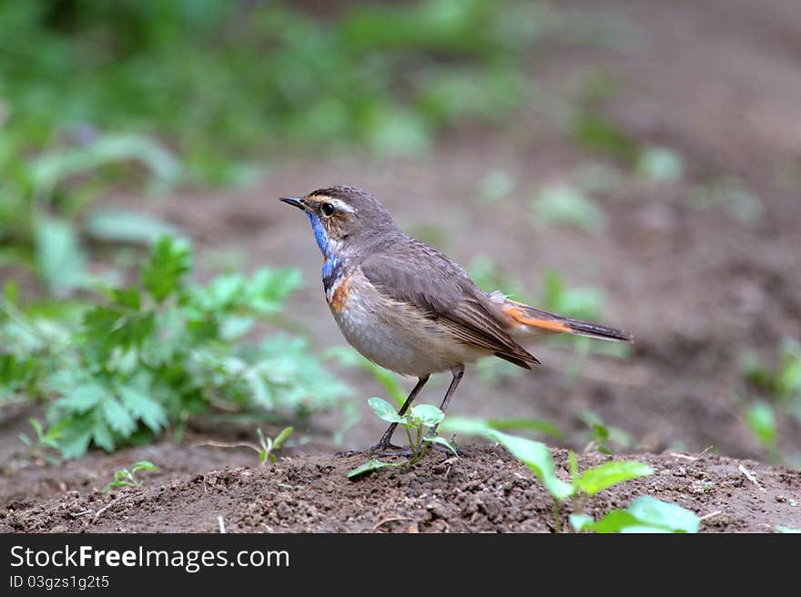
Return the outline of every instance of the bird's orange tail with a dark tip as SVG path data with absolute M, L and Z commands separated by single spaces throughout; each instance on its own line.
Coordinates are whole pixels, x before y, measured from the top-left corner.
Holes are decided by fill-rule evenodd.
M 492 293 L 491 298 L 492 302 L 500 302 L 496 293 Z M 507 320 L 512 336 L 518 338 L 566 333 L 616 342 L 633 341 L 632 335 L 621 329 L 607 328 L 581 319 L 562 317 L 509 298 L 503 297 L 499 307 Z

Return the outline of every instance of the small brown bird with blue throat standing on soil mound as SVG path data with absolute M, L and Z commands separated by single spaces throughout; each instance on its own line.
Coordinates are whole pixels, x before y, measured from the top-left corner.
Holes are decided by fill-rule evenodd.
M 398 228 L 378 199 L 350 186 L 279 197 L 309 218 L 323 255 L 322 284 L 342 335 L 362 356 L 417 383 L 398 414 L 411 407 L 435 373 L 451 372 L 440 409 L 447 410 L 465 366 L 483 357 L 522 369 L 540 364 L 521 342 L 551 334 L 633 341 L 631 334 L 572 319 L 486 292 L 451 258 Z M 397 423 L 363 451 L 397 448 Z M 436 426 L 431 429 L 436 434 Z

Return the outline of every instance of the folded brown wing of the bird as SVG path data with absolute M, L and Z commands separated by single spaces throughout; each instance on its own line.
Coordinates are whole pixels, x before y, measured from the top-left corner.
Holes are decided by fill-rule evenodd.
M 503 329 L 484 305 L 486 295 L 451 259 L 414 240 L 395 253 L 361 262 L 361 271 L 373 286 L 393 300 L 421 309 L 465 344 L 492 350 L 525 369 L 531 369 L 530 362 L 540 362 Z

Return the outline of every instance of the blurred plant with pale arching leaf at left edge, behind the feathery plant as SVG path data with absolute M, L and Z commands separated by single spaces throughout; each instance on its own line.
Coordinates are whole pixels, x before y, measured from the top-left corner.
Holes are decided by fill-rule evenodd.
M 56 296 L 90 284 L 86 238 L 147 245 L 177 231 L 143 214 L 89 209 L 136 165 L 153 190 L 177 184 L 180 164 L 151 139 L 109 134 L 27 159 L 22 153 L 21 140 L 0 137 L 0 265 L 32 270 Z

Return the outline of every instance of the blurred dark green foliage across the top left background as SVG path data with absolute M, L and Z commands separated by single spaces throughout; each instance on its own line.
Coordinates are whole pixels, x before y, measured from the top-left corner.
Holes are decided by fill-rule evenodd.
M 230 158 L 265 148 L 416 151 L 461 118 L 508 116 L 526 92 L 517 59 L 550 23 L 540 3 L 511 0 L 326 12 L 335 15 L 289 2 L 2 3 L 5 133 L 23 152 L 54 131 L 157 134 L 190 179 L 212 183 L 247 176 Z

